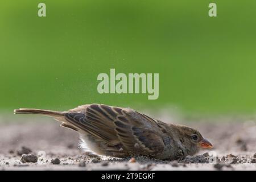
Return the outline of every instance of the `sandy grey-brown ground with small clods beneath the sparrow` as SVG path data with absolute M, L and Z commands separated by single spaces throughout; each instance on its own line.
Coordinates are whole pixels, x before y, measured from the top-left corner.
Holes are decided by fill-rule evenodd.
M 182 161 L 160 161 L 137 157 L 129 159 L 94 156 L 77 148 L 79 135 L 45 117 L 20 117 L 20 121 L 0 122 L 0 169 L 2 170 L 256 170 L 256 124 L 254 120 L 212 119 L 184 123 L 198 129 L 213 143 L 210 151 L 200 151 Z M 6 119 L 6 120 L 13 120 Z M 38 157 L 36 163 L 22 160 L 27 147 Z M 208 152 L 208 153 L 206 153 Z M 205 154 L 206 153 L 206 154 Z M 204 154 L 204 155 L 202 155 Z M 208 154 L 210 156 L 208 156 Z M 60 164 L 51 163 L 59 159 Z M 57 163 L 57 160 L 55 161 Z

